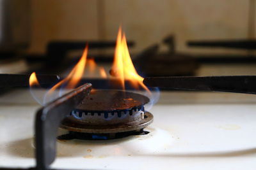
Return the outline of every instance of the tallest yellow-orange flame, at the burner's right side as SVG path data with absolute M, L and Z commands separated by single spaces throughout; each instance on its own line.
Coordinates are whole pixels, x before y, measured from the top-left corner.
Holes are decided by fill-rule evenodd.
M 148 88 L 143 84 L 143 77 L 137 73 L 132 64 L 125 34 L 122 34 L 121 27 L 118 30 L 116 38 L 115 57 L 111 68 L 111 75 L 116 76 L 120 80 L 123 89 L 125 89 L 125 80 L 129 80 L 134 88 L 139 89 L 143 87 L 143 89 L 149 92 Z

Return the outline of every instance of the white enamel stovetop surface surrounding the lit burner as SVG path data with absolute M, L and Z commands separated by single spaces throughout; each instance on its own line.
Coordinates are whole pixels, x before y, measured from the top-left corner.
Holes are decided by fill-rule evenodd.
M 0 98 L 0 167 L 35 166 L 35 103 L 28 90 Z M 255 169 L 256 96 L 161 92 L 145 136 L 58 141 L 63 169 Z

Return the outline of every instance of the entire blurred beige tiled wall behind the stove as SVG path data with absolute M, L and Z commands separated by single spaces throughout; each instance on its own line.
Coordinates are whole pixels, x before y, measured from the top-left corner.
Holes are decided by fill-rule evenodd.
M 115 39 L 120 24 L 136 51 L 171 33 L 186 52 L 198 51 L 188 39 L 248 36 L 249 0 L 33 0 L 32 7 L 29 52 L 44 52 L 51 39 Z

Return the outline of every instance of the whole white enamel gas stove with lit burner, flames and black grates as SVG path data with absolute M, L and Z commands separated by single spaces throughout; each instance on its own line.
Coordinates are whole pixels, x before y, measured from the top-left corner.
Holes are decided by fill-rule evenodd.
M 163 56 L 173 55 L 171 40 L 167 41 L 170 52 L 162 53 Z M 160 65 L 153 59 L 145 63 L 148 53 L 156 51 L 157 46 L 152 46 L 135 60 L 139 69 L 149 71 L 147 76 L 169 74 L 170 63 L 179 70 L 172 75 L 196 73 L 198 65 L 188 55 L 178 55 L 184 60 L 191 59 L 188 65 L 182 64 L 182 60 L 173 62 L 176 59 L 156 60 Z M 19 74 L 2 75 L 5 84 L 0 86 L 13 85 L 10 76 L 14 76 L 17 78 L 14 86 L 29 84 L 29 90 L 16 89 L 0 96 L 0 150 L 3 151 L 0 169 L 250 169 L 255 166 L 253 119 L 256 116 L 252 94 L 256 94 L 256 76 L 247 73 L 232 76 L 233 72 L 226 72 L 229 76 L 197 73 L 198 76 L 189 77 L 143 78 L 133 66 L 121 28 L 113 64 L 106 69 L 109 74 L 87 55 L 88 45 L 76 66 L 70 73 L 62 74 L 60 80 L 58 76 L 35 72 L 22 78 Z M 52 60 L 52 65 L 56 62 Z M 159 66 L 166 68 L 164 74 L 157 73 L 161 70 Z M 188 69 L 179 69 L 180 66 Z M 200 66 L 200 69 L 205 68 Z M 93 71 L 100 74 L 100 79 L 84 78 L 84 72 Z M 56 80 L 58 83 L 50 89 L 42 89 Z

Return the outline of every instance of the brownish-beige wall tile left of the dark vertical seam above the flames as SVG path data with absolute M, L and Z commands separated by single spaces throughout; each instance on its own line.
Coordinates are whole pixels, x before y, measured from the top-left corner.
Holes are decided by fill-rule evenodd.
M 97 38 L 97 1 L 32 0 L 31 53 L 55 40 Z

